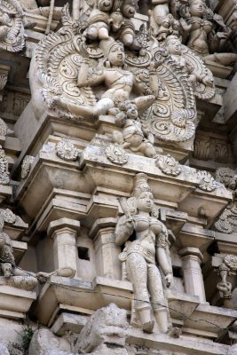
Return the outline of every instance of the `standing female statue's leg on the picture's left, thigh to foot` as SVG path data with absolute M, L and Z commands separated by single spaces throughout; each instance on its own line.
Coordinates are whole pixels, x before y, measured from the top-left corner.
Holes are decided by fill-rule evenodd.
M 134 289 L 136 309 L 142 323 L 143 330 L 151 333 L 154 321 L 151 319 L 151 305 L 147 290 L 147 264 L 143 256 L 132 253 L 127 258 L 127 272 Z

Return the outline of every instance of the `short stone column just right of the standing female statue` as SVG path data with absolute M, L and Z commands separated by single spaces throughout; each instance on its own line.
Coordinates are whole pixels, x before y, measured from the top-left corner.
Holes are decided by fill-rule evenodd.
M 201 260 L 203 258 L 199 248 L 183 248 L 178 254 L 182 259 L 182 269 L 186 285 L 186 293 L 199 296 L 202 303 L 206 302 L 205 288 L 201 273 Z

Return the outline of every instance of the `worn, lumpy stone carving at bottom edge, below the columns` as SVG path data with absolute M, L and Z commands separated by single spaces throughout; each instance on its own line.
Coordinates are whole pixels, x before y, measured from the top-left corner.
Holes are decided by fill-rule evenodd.
M 29 346 L 29 355 L 94 354 L 128 355 L 125 349 L 129 327 L 126 311 L 109 304 L 94 312 L 78 335 L 75 344 L 59 338 L 46 328 L 36 330 Z

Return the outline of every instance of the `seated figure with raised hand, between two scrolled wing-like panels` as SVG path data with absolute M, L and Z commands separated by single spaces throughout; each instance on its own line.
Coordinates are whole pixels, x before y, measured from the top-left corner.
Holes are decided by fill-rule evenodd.
M 151 100 L 154 100 L 153 91 L 148 86 L 138 83 L 135 75 L 126 70 L 122 43 L 115 42 L 112 38 L 109 38 L 108 40 L 100 41 L 99 46 L 105 54 L 103 67 L 99 67 L 98 70 L 94 69 L 90 73 L 88 60 L 84 59 L 79 70 L 77 82 L 79 88 L 104 83 L 107 89 L 101 95 L 99 101 L 94 106 L 82 106 L 69 101 L 66 102 L 57 97 L 54 99 L 54 104 L 56 103 L 66 108 L 77 116 L 93 119 L 98 117 L 99 114 L 107 114 L 109 109 L 117 106 L 122 101 L 130 99 L 130 93 L 134 89 L 140 95 L 143 95 L 137 98 L 137 102 L 140 100 L 144 105 L 147 101 L 147 105 L 150 106 Z

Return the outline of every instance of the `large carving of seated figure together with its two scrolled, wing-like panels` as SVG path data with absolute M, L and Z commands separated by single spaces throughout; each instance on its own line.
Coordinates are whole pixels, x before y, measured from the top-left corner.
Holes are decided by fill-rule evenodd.
M 97 46 L 88 43 L 81 35 L 81 23 L 70 17 L 67 6 L 62 22 L 63 28 L 39 43 L 31 62 L 36 116 L 43 114 L 46 105 L 57 117 L 94 122 L 135 96 L 146 131 L 170 142 L 194 138 L 196 107 L 189 75 L 167 51 L 153 47 L 152 37 L 146 41 L 146 31 L 144 49 L 135 54 L 124 51 L 112 36 Z

